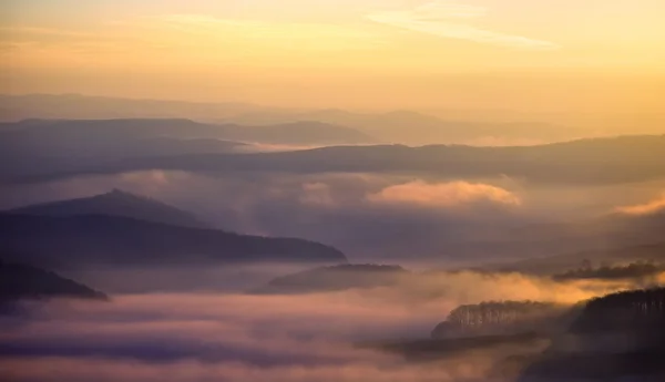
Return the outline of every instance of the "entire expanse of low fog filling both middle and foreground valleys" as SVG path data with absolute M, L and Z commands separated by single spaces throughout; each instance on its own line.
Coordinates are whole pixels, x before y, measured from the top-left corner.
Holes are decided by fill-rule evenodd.
M 253 295 L 275 277 L 313 266 L 58 269 L 111 301 L 35 302 L 24 312 L 28 319 L 2 318 L 9 328 L 0 332 L 3 381 L 515 381 L 516 374 L 498 375 L 497 362 L 507 353 L 542 352 L 548 340 L 438 362 L 409 362 L 358 344 L 429 338 L 460 304 L 572 306 L 641 288 L 625 280 L 555 281 L 538 272 L 434 270 L 610 247 L 612 238 L 597 234 L 596 223 L 665 205 L 662 182 L 582 186 L 397 173 L 152 171 L 7 186 L 0 209 L 113 188 L 193 211 L 221 229 L 317 240 L 342 250 L 351 264 L 399 265 L 412 272 L 369 289 Z M 559 224 L 576 225 L 566 236 L 572 239 L 560 239 Z

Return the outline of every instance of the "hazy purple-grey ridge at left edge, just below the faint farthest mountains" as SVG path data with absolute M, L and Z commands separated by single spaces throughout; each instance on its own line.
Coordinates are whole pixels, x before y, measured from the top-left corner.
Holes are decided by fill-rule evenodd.
M 129 157 L 221 154 L 245 146 L 196 134 L 204 127 L 187 120 L 27 120 L 0 124 L 0 176 L 49 174 Z

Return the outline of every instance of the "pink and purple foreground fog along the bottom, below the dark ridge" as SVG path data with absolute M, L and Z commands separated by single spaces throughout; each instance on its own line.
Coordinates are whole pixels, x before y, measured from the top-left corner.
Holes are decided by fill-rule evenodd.
M 421 276 L 400 287 L 255 296 L 224 291 L 239 287 L 233 282 L 217 292 L 192 291 L 187 272 L 190 278 L 202 275 L 201 269 L 181 270 L 180 278 L 163 278 L 163 285 L 171 283 L 164 290 L 171 291 L 150 293 L 113 293 L 126 283 L 140 285 L 140 273 L 129 279 L 121 271 L 106 279 L 96 273 L 93 286 L 108 288 L 110 302 L 54 300 L 37 303 L 30 320 L 3 319 L 11 330 L 0 334 L 1 352 L 11 357 L 2 358 L 0 373 L 6 381 L 54 382 L 488 381 L 504 355 L 501 348 L 413 363 L 357 344 L 428 338 L 460 303 L 573 303 L 626 287 L 462 272 Z M 203 272 L 213 273 L 223 282 L 228 271 Z M 158 282 L 154 273 L 142 275 L 143 286 L 158 289 L 151 286 Z M 262 278 L 245 281 L 260 283 Z M 532 345 L 538 349 L 525 351 L 546 343 Z

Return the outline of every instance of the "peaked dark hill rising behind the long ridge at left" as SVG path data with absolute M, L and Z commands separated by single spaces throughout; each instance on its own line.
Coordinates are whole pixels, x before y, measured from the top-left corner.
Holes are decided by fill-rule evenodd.
M 172 226 L 211 228 L 191 213 L 155 199 L 136 196 L 120 189 L 72 200 L 51 202 L 16 208 L 12 215 L 40 215 L 53 217 L 106 215 L 131 217 L 139 220 L 163 223 Z

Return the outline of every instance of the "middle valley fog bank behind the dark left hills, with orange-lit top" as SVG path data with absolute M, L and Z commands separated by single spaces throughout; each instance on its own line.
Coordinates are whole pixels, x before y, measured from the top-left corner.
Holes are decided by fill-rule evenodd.
M 611 214 L 633 216 L 663 203 L 665 184 L 543 185 L 501 177 L 457 179 L 406 174 L 135 172 L 3 187 L 0 209 L 103 194 L 120 188 L 196 214 L 243 234 L 299 237 L 332 245 L 354 262 L 415 266 L 559 255 L 605 245 L 605 238 L 533 244 L 552 224 L 580 236 Z M 532 235 L 515 235 L 528 228 Z M 591 229 L 590 229 L 591 228 Z M 492 256 L 488 256 L 492 254 Z

